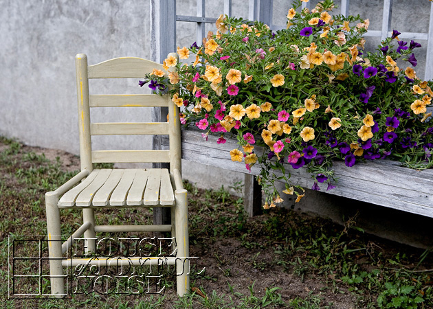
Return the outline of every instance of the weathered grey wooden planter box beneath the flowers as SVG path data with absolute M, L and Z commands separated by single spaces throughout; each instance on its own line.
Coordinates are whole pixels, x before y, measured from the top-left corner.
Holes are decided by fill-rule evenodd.
M 216 139 L 209 135 L 206 141 L 197 130 L 182 130 L 182 159 L 247 174 L 245 164 L 230 159 L 230 150 L 238 148 L 236 139 L 227 139 L 225 144 L 216 144 Z M 162 145 L 168 146 L 168 138 L 163 137 Z M 306 188 L 313 185 L 305 168 L 294 170 L 288 163 L 285 168 L 294 183 Z M 336 161 L 333 168 L 337 187 L 326 192 L 322 184 L 322 192 L 433 218 L 433 170 L 411 170 L 389 160 L 357 163 L 352 168 Z M 251 174 L 259 173 L 256 164 Z

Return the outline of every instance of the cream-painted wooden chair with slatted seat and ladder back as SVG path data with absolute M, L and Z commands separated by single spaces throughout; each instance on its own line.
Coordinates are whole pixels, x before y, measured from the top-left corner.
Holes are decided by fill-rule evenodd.
M 177 56 L 175 53 L 172 55 Z M 141 58 L 114 58 L 87 66 L 85 54 L 76 56 L 81 172 L 54 192 L 45 194 L 51 288 L 52 294 L 58 297 L 65 296 L 63 267 L 74 267 L 89 261 L 65 259 L 63 255 L 83 233 L 84 238 L 89 240 L 87 250 L 95 252 L 95 242 L 91 240 L 96 238 L 96 232 L 170 231 L 172 237 L 177 237 L 177 254 L 176 257 L 169 257 L 167 262 L 177 268 L 177 293 L 184 295 L 189 290 L 189 261 L 184 258 L 189 254 L 188 205 L 187 192 L 181 180 L 179 108 L 168 95 L 89 95 L 89 78 L 142 78 L 153 68 L 162 69 L 162 65 Z M 126 106 L 167 106 L 169 122 L 90 122 L 90 108 Z M 94 151 L 91 148 L 92 135 L 168 135 L 170 149 Z M 93 170 L 93 163 L 100 162 L 168 162 L 170 171 Z M 171 207 L 171 225 L 96 225 L 94 211 L 107 207 Z M 60 208 L 82 209 L 83 216 L 82 225 L 63 244 L 60 238 Z M 107 259 L 93 258 L 89 263 L 98 264 L 101 261 L 107 262 Z M 140 265 L 137 258 L 131 258 L 131 262 Z M 146 264 L 157 263 L 158 258 L 146 260 Z

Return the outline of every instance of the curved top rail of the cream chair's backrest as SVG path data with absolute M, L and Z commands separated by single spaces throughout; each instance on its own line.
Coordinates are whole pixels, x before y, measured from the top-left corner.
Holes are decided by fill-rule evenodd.
M 154 68 L 163 69 L 162 65 L 150 60 L 124 57 L 90 65 L 87 74 L 89 78 L 143 78 Z

